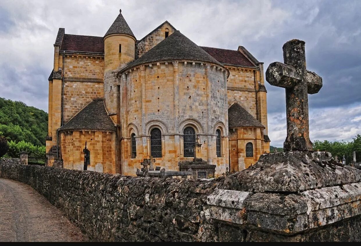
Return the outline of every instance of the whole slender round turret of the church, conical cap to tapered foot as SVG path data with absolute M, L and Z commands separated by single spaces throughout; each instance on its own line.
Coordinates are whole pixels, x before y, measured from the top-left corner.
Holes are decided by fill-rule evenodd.
M 119 124 L 119 86 L 116 74 L 135 57 L 135 36 L 125 21 L 122 10 L 104 35 L 104 99 L 105 106 Z

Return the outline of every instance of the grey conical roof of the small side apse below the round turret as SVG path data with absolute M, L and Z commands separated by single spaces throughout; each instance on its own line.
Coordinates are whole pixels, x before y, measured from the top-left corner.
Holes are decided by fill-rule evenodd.
M 108 113 L 106 113 L 104 99 L 97 98 L 93 99 L 92 102 L 66 122 L 59 130 L 116 131 L 117 129 Z

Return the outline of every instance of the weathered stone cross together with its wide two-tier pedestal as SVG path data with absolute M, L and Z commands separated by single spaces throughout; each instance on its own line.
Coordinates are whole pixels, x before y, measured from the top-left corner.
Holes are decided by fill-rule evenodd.
M 247 231 L 248 241 L 359 241 L 361 171 L 312 151 L 307 94 L 321 89 L 322 78 L 306 70 L 305 42 L 285 43 L 283 57 L 269 65 L 266 79 L 286 88 L 285 152 L 264 154 L 226 176 L 207 198 L 210 218 Z

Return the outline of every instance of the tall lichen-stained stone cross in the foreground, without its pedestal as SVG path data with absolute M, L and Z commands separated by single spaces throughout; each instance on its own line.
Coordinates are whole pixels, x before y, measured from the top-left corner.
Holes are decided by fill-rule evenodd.
M 306 70 L 305 42 L 293 39 L 283 45 L 283 61 L 273 62 L 266 80 L 286 88 L 287 138 L 284 151 L 311 151 L 309 137 L 308 96 L 322 87 L 322 78 Z

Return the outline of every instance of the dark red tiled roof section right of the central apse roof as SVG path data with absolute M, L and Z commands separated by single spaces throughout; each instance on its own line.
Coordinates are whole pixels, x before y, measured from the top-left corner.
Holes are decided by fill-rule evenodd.
M 256 66 L 239 51 L 203 46 L 200 47 L 223 65 Z

